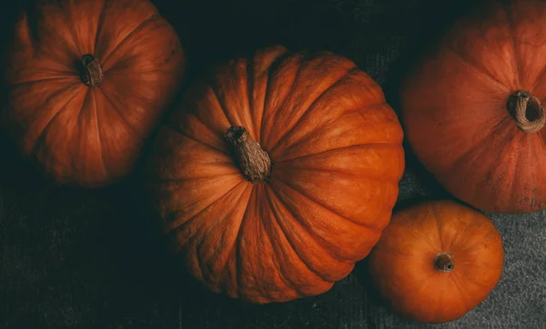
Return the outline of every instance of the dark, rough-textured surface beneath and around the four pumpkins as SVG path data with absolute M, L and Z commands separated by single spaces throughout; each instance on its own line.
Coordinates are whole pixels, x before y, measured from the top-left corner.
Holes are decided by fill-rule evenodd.
M 395 108 L 396 83 L 411 55 L 468 6 L 438 0 L 155 3 L 187 47 L 191 75 L 260 45 L 329 49 L 376 78 Z M 0 37 L 23 5 L 0 9 Z M 258 306 L 210 294 L 174 274 L 141 207 L 136 178 L 101 191 L 67 190 L 17 160 L 4 138 L 0 154 L 2 329 L 428 327 L 381 304 L 365 261 L 329 293 L 286 304 Z M 410 152 L 400 188 L 399 205 L 449 197 Z M 545 215 L 490 217 L 504 238 L 501 282 L 475 310 L 438 327 L 546 328 Z

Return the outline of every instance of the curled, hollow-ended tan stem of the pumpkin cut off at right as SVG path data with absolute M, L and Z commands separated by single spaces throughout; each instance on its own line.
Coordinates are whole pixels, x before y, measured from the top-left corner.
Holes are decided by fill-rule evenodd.
M 546 115 L 541 101 L 528 91 L 518 90 L 508 99 L 508 110 L 514 117 L 516 125 L 527 134 L 540 131 L 546 123 Z

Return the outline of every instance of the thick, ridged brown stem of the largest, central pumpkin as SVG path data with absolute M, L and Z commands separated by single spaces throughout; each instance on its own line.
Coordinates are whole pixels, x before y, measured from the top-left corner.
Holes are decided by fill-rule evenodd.
M 271 159 L 242 126 L 232 125 L 224 136 L 240 171 L 251 183 L 264 182 L 271 173 Z

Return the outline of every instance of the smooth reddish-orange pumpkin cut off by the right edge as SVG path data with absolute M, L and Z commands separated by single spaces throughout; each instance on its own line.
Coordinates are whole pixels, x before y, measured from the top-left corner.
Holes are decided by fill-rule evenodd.
M 540 211 L 544 111 L 529 101 L 517 115 L 510 101 L 518 91 L 546 101 L 546 3 L 480 8 L 408 75 L 400 97 L 404 131 L 420 162 L 462 201 L 494 213 Z

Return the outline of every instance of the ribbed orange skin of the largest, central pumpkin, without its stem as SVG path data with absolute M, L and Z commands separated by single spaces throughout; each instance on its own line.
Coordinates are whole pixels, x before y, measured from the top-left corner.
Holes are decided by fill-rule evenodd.
M 404 169 L 396 114 L 369 75 L 326 52 L 273 46 L 211 76 L 186 92 L 148 166 L 173 251 L 209 289 L 251 303 L 328 291 L 389 223 Z M 263 180 L 239 169 L 231 126 L 267 152 Z

